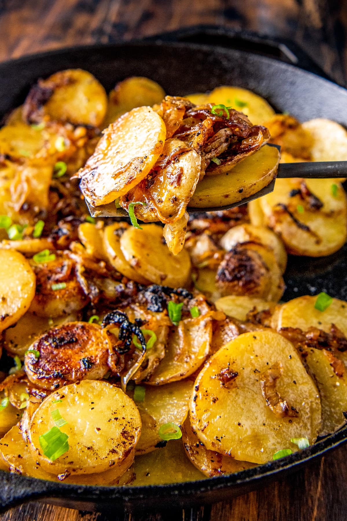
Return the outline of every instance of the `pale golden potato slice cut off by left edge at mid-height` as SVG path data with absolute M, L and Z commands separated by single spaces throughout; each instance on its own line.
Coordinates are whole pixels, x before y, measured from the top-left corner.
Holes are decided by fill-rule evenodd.
M 27 259 L 15 250 L 0 249 L 0 331 L 15 324 L 35 295 L 35 275 Z

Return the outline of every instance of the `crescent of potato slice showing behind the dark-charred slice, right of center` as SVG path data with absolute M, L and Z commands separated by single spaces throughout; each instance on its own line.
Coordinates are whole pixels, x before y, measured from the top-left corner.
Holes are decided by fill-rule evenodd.
M 269 246 L 274 252 L 278 266 L 282 273 L 285 272 L 287 266 L 287 252 L 284 244 L 272 230 L 265 226 L 254 226 L 243 224 L 230 228 L 221 239 L 221 245 L 227 252 L 236 244 L 243 242 L 259 242 L 265 246 Z

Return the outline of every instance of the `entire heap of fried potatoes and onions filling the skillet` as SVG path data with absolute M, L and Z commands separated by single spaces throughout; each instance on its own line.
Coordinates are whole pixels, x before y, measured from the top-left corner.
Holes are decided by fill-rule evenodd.
M 279 302 L 288 253 L 344 244 L 342 180 L 277 180 L 226 212 L 186 207 L 271 180 L 267 139 L 301 162 L 345 159 L 346 137 L 234 87 L 165 97 L 134 77 L 107 97 L 86 71 L 38 81 L 0 129 L 0 467 L 79 485 L 181 482 L 344 426 L 347 303 Z M 145 224 L 91 218 L 81 167 L 86 196 L 130 214 L 138 203 Z

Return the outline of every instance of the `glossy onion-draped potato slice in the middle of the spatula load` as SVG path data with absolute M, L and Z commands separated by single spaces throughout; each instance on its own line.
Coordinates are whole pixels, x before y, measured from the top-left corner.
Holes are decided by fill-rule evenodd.
M 194 194 L 201 171 L 201 156 L 189 150 L 179 139 L 165 141 L 150 179 L 145 179 L 120 198 L 120 205 L 140 201 L 145 206 L 134 208 L 135 216 L 144 222 L 160 220 L 166 224 L 184 216 L 190 197 Z

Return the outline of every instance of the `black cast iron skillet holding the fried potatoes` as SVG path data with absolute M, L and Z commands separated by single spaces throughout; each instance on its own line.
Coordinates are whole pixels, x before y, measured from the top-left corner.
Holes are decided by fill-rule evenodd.
M 197 34 L 198 38 L 195 38 Z M 180 33 L 174 37 L 182 40 Z M 194 39 L 206 41 L 211 38 L 231 48 L 192 43 Z M 188 43 L 170 42 L 167 37 L 165 40 L 73 47 L 0 64 L 0 116 L 22 103 L 30 85 L 38 78 L 58 70 L 81 67 L 92 72 L 107 91 L 127 76 L 152 78 L 169 94 L 204 92 L 223 84 L 239 85 L 264 96 L 277 110 L 287 110 L 302 121 L 326 117 L 347 126 L 347 91 L 280 61 L 278 58 L 292 63 L 298 61 L 288 46 L 254 35 L 245 38 L 221 29 L 214 29 L 214 33 L 211 29 L 188 31 Z M 264 54 L 275 54 L 277 59 Z M 307 57 L 301 63 L 305 68 L 314 67 Z M 314 70 L 319 72 L 317 67 Z M 346 252 L 345 246 L 337 254 L 323 259 L 290 259 L 284 300 L 318 291 L 347 300 Z M 347 427 L 344 427 L 284 460 L 231 476 L 177 485 L 136 488 L 75 486 L 0 472 L 0 509 L 40 498 L 71 508 L 113 514 L 118 509 L 121 512 L 145 512 L 212 503 L 264 486 L 269 480 L 284 476 L 346 440 Z

